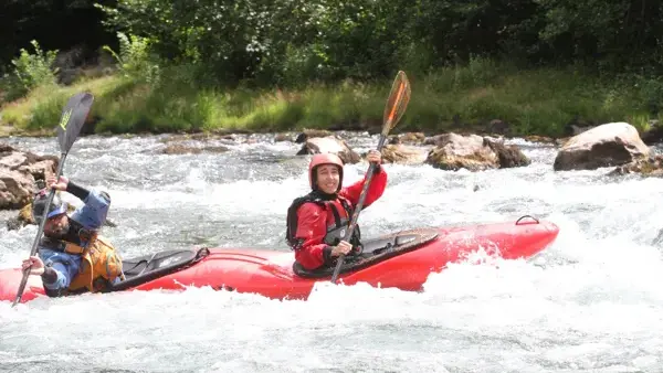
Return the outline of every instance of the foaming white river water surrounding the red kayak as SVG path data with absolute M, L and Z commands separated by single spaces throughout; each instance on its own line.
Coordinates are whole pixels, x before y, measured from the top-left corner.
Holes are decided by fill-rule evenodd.
M 377 145 L 346 136 L 359 152 Z M 308 188 L 298 145 L 265 135 L 170 156 L 164 138 L 85 137 L 67 157 L 66 175 L 110 193 L 117 227 L 105 235 L 124 256 L 288 251 L 285 212 Z M 54 139 L 3 141 L 57 152 Z M 560 226 L 533 260 L 478 255 L 432 274 L 423 292 L 324 285 L 307 301 L 208 288 L 0 301 L 0 371 L 663 372 L 663 180 L 554 172 L 555 147 L 511 142 L 529 167 L 387 164 L 388 189 L 359 222 L 372 236 L 530 214 Z M 366 169 L 346 166 L 346 184 Z M 0 269 L 18 266 L 34 235 L 2 221 Z

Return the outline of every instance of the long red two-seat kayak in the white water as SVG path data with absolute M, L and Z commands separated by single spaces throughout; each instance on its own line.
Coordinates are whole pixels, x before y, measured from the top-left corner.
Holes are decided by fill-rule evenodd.
M 529 215 L 516 222 L 401 231 L 366 239 L 361 254 L 346 257 L 338 281 L 419 291 L 431 273 L 485 251 L 505 259 L 529 258 L 555 241 L 559 227 Z M 316 281 L 329 281 L 334 268 L 308 271 L 293 264 L 292 252 L 259 248 L 164 251 L 124 260 L 126 280 L 112 291 L 217 290 L 260 294 L 274 299 L 306 299 Z M 0 301 L 13 301 L 22 273 L 0 270 Z M 44 295 L 41 278 L 30 276 L 22 302 Z M 45 296 L 45 295 L 44 295 Z

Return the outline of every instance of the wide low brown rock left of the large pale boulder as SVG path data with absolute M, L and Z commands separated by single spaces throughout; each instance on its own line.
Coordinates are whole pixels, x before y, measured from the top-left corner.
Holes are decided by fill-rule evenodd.
M 477 135 L 445 134 L 438 137 L 435 145 L 429 151 L 425 163 L 442 170 L 464 168 L 481 171 L 522 167 L 530 162 L 517 146 L 505 146 L 498 140 Z

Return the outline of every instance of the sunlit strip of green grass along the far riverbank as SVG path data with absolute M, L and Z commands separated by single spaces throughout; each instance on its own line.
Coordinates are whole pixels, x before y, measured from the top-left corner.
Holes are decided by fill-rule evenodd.
M 645 88 L 577 70 L 522 71 L 482 62 L 409 75 L 412 98 L 397 131 L 570 135 L 579 127 L 627 121 L 646 130 L 653 119 Z M 391 82 L 311 84 L 298 89 L 197 90 L 177 77 L 150 85 L 109 75 L 71 86 L 40 87 L 7 103 L 0 136 L 52 132 L 66 99 L 95 95 L 95 134 L 372 130 L 382 120 Z M 662 116 L 663 117 L 663 116 Z

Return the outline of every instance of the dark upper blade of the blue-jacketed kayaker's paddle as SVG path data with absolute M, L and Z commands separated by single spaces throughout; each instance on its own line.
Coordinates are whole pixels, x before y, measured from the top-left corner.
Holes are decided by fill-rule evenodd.
M 60 143 L 61 152 L 69 152 L 76 138 L 78 138 L 93 102 L 93 95 L 80 93 L 72 96 L 66 103 L 57 125 L 57 143 Z

